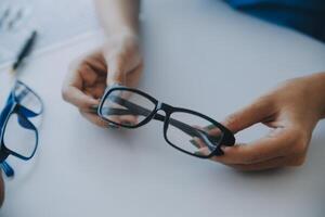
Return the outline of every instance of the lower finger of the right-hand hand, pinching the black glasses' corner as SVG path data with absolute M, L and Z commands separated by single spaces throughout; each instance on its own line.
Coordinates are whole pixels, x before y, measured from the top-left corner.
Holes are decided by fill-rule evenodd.
M 295 142 L 292 135 L 290 130 L 277 129 L 250 144 L 222 146 L 224 155 L 212 158 L 224 164 L 252 164 L 285 156 Z

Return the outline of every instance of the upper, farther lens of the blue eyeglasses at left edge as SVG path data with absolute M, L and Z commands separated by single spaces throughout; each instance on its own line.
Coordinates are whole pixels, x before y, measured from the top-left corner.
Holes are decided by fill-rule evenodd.
M 42 104 L 39 98 L 24 85 L 17 82 L 15 86 L 15 98 L 21 105 L 35 112 L 40 113 L 42 110 Z

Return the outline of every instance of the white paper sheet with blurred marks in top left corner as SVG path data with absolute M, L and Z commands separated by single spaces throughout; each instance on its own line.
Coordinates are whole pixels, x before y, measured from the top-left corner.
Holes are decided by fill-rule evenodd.
M 14 60 L 35 29 L 34 54 L 39 54 L 98 27 L 92 0 L 0 0 L 0 67 Z

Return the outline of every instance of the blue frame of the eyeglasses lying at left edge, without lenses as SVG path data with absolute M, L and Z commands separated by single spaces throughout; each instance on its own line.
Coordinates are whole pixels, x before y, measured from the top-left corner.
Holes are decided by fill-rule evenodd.
M 18 88 L 18 86 L 24 87 L 24 91 L 20 95 L 16 95 L 15 90 Z M 23 99 L 27 93 L 34 94 L 39 100 L 40 105 L 41 105 L 39 112 L 30 111 L 27 107 L 20 104 L 21 99 Z M 13 89 L 11 90 L 11 92 L 6 99 L 5 106 L 0 114 L 0 129 L 1 129 L 1 131 L 0 131 L 0 141 L 1 141 L 1 143 L 0 143 L 0 165 L 8 177 L 14 176 L 14 169 L 5 162 L 5 159 L 8 158 L 9 155 L 13 155 L 23 161 L 28 161 L 35 155 L 36 150 L 38 148 L 38 140 L 39 140 L 38 129 L 28 118 L 39 116 L 40 114 L 42 114 L 42 112 L 43 112 L 43 102 L 42 102 L 41 98 L 34 90 L 31 90 L 27 85 L 25 85 L 24 82 L 22 82 L 20 80 L 16 80 Z M 34 149 L 32 153 L 29 156 L 24 156 L 22 154 L 18 154 L 5 146 L 3 137 L 4 137 L 8 120 L 10 119 L 10 116 L 12 114 L 16 114 L 18 116 L 18 124 L 21 125 L 21 127 L 32 130 L 35 132 L 36 144 L 35 144 L 35 149 Z

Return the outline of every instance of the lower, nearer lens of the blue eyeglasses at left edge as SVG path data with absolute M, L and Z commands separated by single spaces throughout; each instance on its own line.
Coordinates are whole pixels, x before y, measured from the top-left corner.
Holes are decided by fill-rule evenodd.
M 36 131 L 30 123 L 17 114 L 12 114 L 5 126 L 3 142 L 6 149 L 24 156 L 30 157 L 36 149 Z

